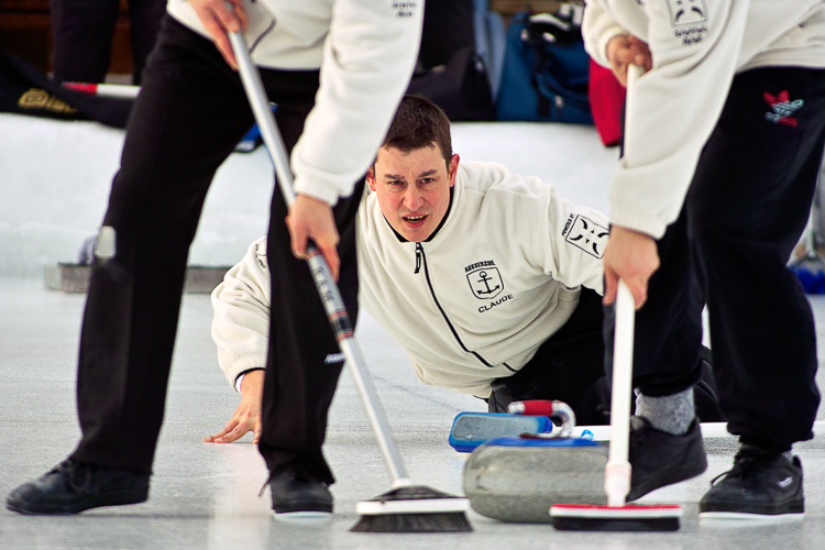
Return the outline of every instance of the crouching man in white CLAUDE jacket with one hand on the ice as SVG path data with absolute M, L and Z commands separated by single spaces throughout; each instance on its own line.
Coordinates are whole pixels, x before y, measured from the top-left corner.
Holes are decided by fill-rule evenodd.
M 450 121 L 407 96 L 366 176 L 358 213 L 360 305 L 425 384 L 472 394 L 491 411 L 559 399 L 579 424 L 609 421 L 602 337 L 607 218 L 537 177 L 460 163 Z M 212 293 L 212 337 L 241 404 L 205 441 L 260 431 L 268 334 L 266 239 Z M 710 353 L 697 414 L 721 420 Z

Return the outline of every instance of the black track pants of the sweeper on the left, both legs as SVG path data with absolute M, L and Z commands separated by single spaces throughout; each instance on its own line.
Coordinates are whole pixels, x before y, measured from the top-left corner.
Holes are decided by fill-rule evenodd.
M 292 148 L 314 105 L 318 72 L 263 70 L 262 77 L 279 106 L 276 119 Z M 105 218 L 117 231 L 117 255 L 106 263 L 96 261 L 92 268 L 78 365 L 82 439 L 73 458 L 151 471 L 189 245 L 215 172 L 252 123 L 238 74 L 212 43 L 165 18 L 132 110 Z M 342 226 L 341 290 L 354 317 L 358 276 L 351 260 L 354 233 L 348 228 L 360 193 L 353 197 L 336 207 L 336 216 Z M 319 300 L 308 268 L 286 252 L 284 217 L 276 190 L 270 231 L 270 254 L 277 256 L 270 261 L 272 320 L 283 333 L 271 338 L 261 450 L 271 465 L 284 453 L 306 454 L 323 472 L 326 463 L 316 447 L 322 441 L 327 397 L 334 391 L 340 364 L 316 369 L 307 363 L 322 353 L 316 350 L 330 348 L 331 330 L 326 315 L 315 310 Z M 276 384 L 273 370 L 289 383 L 306 377 L 311 384 Z M 294 405 L 278 417 L 288 428 L 274 426 L 267 415 L 273 403 Z

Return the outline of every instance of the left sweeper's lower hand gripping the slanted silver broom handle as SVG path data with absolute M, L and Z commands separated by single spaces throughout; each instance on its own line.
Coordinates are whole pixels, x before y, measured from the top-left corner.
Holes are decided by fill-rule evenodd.
M 307 241 L 311 239 L 329 264 L 332 277 L 338 280 L 341 261 L 336 246 L 340 238 L 332 217 L 332 207 L 309 195 L 298 194 L 289 208 L 286 224 L 292 235 L 295 257 L 307 258 Z

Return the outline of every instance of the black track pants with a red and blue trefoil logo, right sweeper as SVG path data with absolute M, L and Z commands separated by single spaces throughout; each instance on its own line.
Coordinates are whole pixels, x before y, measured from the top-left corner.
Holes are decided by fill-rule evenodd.
M 820 404 L 813 316 L 787 262 L 824 147 L 825 70 L 737 75 L 682 213 L 659 242 L 662 267 L 637 316 L 635 385 L 669 395 L 697 380 L 682 355 L 696 348 L 683 342 L 701 338 L 706 300 L 728 429 L 780 451 L 813 437 Z

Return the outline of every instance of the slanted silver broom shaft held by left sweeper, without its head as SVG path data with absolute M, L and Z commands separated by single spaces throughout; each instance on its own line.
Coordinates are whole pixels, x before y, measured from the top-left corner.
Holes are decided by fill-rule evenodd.
M 280 132 L 278 132 L 275 125 L 272 111 L 268 107 L 270 100 L 264 92 L 261 75 L 250 59 L 243 34 L 229 33 L 229 40 L 235 54 L 238 72 L 241 75 L 241 81 L 250 100 L 252 112 L 255 116 L 257 125 L 261 128 L 261 135 L 275 165 L 278 187 L 284 195 L 287 207 L 289 207 L 295 201 L 293 173 L 289 170 L 289 158 L 286 154 L 284 140 L 280 138 Z M 332 273 L 323 260 L 320 250 L 315 244 L 310 243 L 307 255 L 309 256 L 307 263 L 309 264 L 309 270 L 312 272 L 318 295 L 321 297 L 323 308 L 327 310 L 327 317 L 332 327 L 332 332 L 336 334 L 336 340 L 338 340 L 338 345 L 341 348 L 341 352 L 346 359 L 346 365 L 350 367 L 350 372 L 355 380 L 355 386 L 358 386 L 359 394 L 361 394 L 361 400 L 364 404 L 367 417 L 370 417 L 370 424 L 378 440 L 378 447 L 384 454 L 387 469 L 393 477 L 393 486 L 410 485 L 409 475 L 404 468 L 400 453 L 391 435 L 384 410 L 381 408 L 378 396 L 373 386 L 372 377 L 366 370 L 366 362 L 353 336 L 350 316 L 346 314 L 346 308 L 341 299 L 338 286 L 332 279 Z

